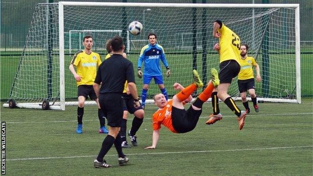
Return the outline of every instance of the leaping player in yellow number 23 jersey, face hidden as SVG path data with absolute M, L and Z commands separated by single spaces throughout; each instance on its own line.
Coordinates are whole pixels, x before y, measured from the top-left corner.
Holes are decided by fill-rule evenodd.
M 212 93 L 212 96 L 216 95 L 219 97 L 238 116 L 239 130 L 241 130 L 244 126 L 247 113 L 246 111 L 241 111 L 227 93 L 232 79 L 240 71 L 240 38 L 220 20 L 215 21 L 213 24 L 213 37 L 219 39 L 220 84 L 213 91 L 217 93 Z M 211 116 L 206 124 L 213 124 L 220 119 L 222 119 L 222 116 L 219 112 L 214 111 L 214 115 Z

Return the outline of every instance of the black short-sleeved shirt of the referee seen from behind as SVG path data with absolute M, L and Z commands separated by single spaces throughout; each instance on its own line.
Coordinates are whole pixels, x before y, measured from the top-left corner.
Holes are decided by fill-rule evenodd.
M 101 63 L 94 82 L 102 82 L 100 93 L 122 93 L 126 80 L 135 82 L 132 63 L 122 55 L 113 54 Z

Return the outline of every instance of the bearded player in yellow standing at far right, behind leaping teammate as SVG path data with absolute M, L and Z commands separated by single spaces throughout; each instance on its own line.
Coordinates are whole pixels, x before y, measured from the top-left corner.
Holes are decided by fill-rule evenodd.
M 249 108 L 249 104 L 247 100 L 247 91 L 251 95 L 251 100 L 253 102 L 253 107 L 254 107 L 255 112 L 259 112 L 259 106 L 257 105 L 256 94 L 254 90 L 255 85 L 254 85 L 254 76 L 253 76 L 252 67 L 255 67 L 256 81 L 257 82 L 261 81 L 260 67 L 255 62 L 253 57 L 247 56 L 248 50 L 249 50 L 248 45 L 246 44 L 241 45 L 240 47 L 241 69 L 238 74 L 238 89 L 240 92 L 242 104 L 246 108 L 247 113 L 250 112 L 250 108 Z

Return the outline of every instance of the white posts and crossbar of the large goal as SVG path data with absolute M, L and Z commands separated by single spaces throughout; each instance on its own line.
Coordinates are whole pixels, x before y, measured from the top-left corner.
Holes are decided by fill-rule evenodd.
M 63 7 L 64 6 L 106 6 L 106 7 L 161 7 L 161 8 L 294 8 L 295 9 L 295 66 L 296 66 L 296 99 L 274 99 L 258 98 L 261 101 L 301 103 L 301 74 L 300 74 L 300 11 L 299 4 L 167 4 L 167 3 L 87 3 L 87 2 L 59 2 L 59 33 L 60 33 L 60 51 L 64 51 L 64 25 L 63 25 Z M 62 38 L 61 38 L 62 36 Z M 63 40 L 63 41 L 61 41 Z M 61 45 L 62 44 L 62 45 Z M 64 62 L 64 52 L 60 52 L 61 59 Z M 64 63 L 63 63 L 64 64 Z M 63 70 L 64 71 L 64 70 Z M 63 73 L 64 76 L 64 73 Z M 60 77 L 60 87 L 64 89 L 64 77 Z M 61 85 L 61 83 L 63 83 Z M 61 98 L 62 96 L 62 98 Z M 60 98 L 65 99 L 65 93 L 60 93 Z M 241 100 L 241 98 L 235 98 Z M 61 109 L 65 109 L 65 102 L 61 102 Z

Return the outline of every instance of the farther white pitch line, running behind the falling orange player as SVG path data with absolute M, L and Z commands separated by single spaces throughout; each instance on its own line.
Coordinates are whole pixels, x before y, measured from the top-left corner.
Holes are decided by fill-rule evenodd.
M 251 116 L 282 116 L 282 115 L 308 115 L 313 114 L 311 112 L 309 113 L 293 113 L 293 114 L 249 114 L 248 117 Z M 223 117 L 235 117 L 235 115 L 225 115 Z M 199 118 L 208 118 L 207 116 L 201 116 Z M 143 118 L 144 120 L 151 120 L 152 118 Z M 129 119 L 132 120 L 132 119 Z M 77 120 L 60 120 L 60 121 L 30 121 L 30 122 L 6 122 L 11 124 L 19 124 L 19 123 L 60 123 L 60 122 L 76 122 Z M 84 121 L 98 121 L 96 120 L 84 120 Z

